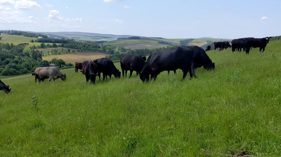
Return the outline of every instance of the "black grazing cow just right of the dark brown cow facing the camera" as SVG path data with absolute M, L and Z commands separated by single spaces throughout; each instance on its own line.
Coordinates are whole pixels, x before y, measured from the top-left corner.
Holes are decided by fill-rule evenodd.
M 117 79 L 120 78 L 121 72 L 114 66 L 109 58 L 99 58 L 94 60 L 94 63 L 97 64 L 99 78 L 100 73 L 103 75 L 103 80 L 107 78 L 107 76 L 111 79 L 111 75 L 114 75 Z

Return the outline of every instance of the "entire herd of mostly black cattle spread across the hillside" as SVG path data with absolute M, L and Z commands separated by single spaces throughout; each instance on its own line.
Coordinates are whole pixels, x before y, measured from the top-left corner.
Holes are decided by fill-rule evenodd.
M 266 44 L 269 42 L 271 37 L 266 38 L 239 38 L 234 39 L 231 42 L 215 42 L 214 49 L 226 49 L 232 47 L 232 51 L 235 50 L 246 51 L 248 54 L 252 47 L 259 47 L 265 49 Z M 211 46 L 209 45 L 205 51 L 209 51 Z M 142 82 L 154 79 L 156 80 L 158 74 L 163 71 L 174 71 L 176 73 L 177 69 L 181 69 L 183 72 L 182 79 L 185 79 L 187 73 L 189 72 L 190 79 L 195 75 L 195 69 L 199 67 L 204 67 L 207 70 L 212 70 L 215 68 L 215 63 L 210 60 L 209 56 L 206 54 L 204 49 L 198 46 L 178 46 L 165 49 L 160 52 L 155 52 L 147 58 L 146 56 L 137 56 L 131 54 L 125 54 L 120 59 L 120 65 L 122 69 L 122 76 L 127 77 L 127 72 L 130 71 L 130 76 L 132 76 L 133 71 L 137 72 L 137 76 L 142 80 Z M 82 74 L 86 77 L 86 82 L 90 80 L 90 83 L 95 83 L 96 76 L 101 76 L 103 74 L 103 80 L 107 79 L 107 76 L 111 79 L 113 75 L 115 78 L 119 79 L 121 77 L 121 72 L 115 67 L 114 63 L 109 58 L 99 58 L 93 61 L 84 61 L 83 63 L 75 63 L 75 72 L 81 70 Z M 41 81 L 49 79 L 49 82 L 53 79 L 66 80 L 66 74 L 62 74 L 56 67 L 37 67 L 32 73 L 35 76 L 35 81 L 40 84 Z M 0 90 L 5 93 L 11 92 L 9 85 L 5 85 L 0 80 Z

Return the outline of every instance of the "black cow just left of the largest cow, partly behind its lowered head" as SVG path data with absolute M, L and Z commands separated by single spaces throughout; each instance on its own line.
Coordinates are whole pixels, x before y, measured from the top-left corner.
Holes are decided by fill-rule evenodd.
M 124 77 L 124 71 L 125 71 L 125 76 L 127 77 L 128 70 L 130 70 L 129 78 L 132 76 L 133 71 L 136 71 L 138 75 L 138 72 L 142 71 L 142 68 L 144 67 L 144 63 L 145 61 L 142 56 L 131 55 L 131 54 L 123 55 L 120 58 L 122 76 Z

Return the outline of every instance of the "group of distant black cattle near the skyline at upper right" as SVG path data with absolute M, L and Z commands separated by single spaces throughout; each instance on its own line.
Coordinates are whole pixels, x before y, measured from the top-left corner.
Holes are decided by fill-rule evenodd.
M 266 38 L 239 38 L 239 39 L 233 39 L 231 41 L 231 45 L 228 41 L 225 42 L 214 42 L 214 49 L 216 50 L 219 48 L 219 50 L 227 49 L 228 47 L 232 47 L 232 52 L 234 51 L 240 51 L 243 48 L 243 51 L 246 51 L 247 54 L 249 54 L 250 49 L 252 47 L 257 48 L 259 47 L 259 51 L 261 52 L 261 49 L 264 51 L 266 44 L 268 44 L 269 39 L 271 37 Z M 211 46 L 208 45 L 205 51 L 211 50 Z M 262 52 L 263 52 L 262 51 Z

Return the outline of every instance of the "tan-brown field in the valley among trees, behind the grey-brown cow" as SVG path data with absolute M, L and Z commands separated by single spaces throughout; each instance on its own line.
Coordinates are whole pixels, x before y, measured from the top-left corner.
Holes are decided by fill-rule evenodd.
M 62 59 L 68 63 L 83 62 L 84 60 L 94 60 L 105 57 L 105 53 L 101 52 L 84 52 L 84 53 L 66 53 L 61 55 L 43 56 L 43 60 L 52 60 L 53 58 Z

